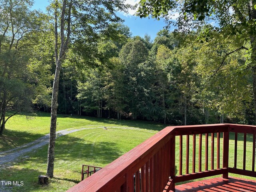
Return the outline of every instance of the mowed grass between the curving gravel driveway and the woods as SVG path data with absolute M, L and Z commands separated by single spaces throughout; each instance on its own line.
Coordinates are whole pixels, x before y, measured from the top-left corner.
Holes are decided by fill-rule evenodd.
M 30 116 L 29 116 L 30 115 Z M 87 126 L 130 126 L 135 128 L 161 130 L 165 126 L 152 122 L 113 120 L 92 118 L 84 116 L 70 116 L 58 114 L 57 131 L 63 129 L 84 128 Z M 0 152 L 23 144 L 32 142 L 50 132 L 50 114 L 39 112 L 31 114 L 18 114 L 6 123 L 4 134 L 0 137 Z

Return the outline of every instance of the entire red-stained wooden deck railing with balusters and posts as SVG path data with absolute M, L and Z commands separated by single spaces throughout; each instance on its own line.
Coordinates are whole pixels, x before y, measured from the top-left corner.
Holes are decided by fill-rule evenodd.
M 234 168 L 228 167 L 229 135 L 234 132 Z M 243 169 L 238 169 L 237 141 L 238 133 L 244 134 Z M 204 134 L 204 135 L 203 135 Z M 210 169 L 209 169 L 209 134 Z M 246 170 L 246 134 L 252 134 L 252 170 Z M 215 137 L 216 135 L 216 137 Z M 162 192 L 174 190 L 175 183 L 222 174 L 228 178 L 228 173 L 256 177 L 255 164 L 256 126 L 236 124 L 211 124 L 194 126 L 169 126 L 154 136 L 136 146 L 120 158 L 108 164 L 102 170 L 94 173 L 68 192 Z M 183 172 L 183 136 L 186 136 L 186 170 Z M 205 137 L 205 158 L 202 163 L 202 138 Z M 179 167 L 176 175 L 176 138 L 180 138 Z M 192 137 L 192 169 L 190 162 L 190 137 Z M 198 137 L 198 142 L 196 138 Z M 216 140 L 216 149 L 214 141 Z M 221 143 L 223 145 L 221 146 Z M 196 155 L 198 144 L 198 155 Z M 220 148 L 222 147 L 222 157 Z M 198 156 L 198 157 L 197 157 Z M 216 163 L 214 157 L 216 156 Z M 222 158 L 222 166 L 220 162 Z M 196 166 L 198 161 L 198 167 Z M 202 170 L 204 165 L 204 170 Z

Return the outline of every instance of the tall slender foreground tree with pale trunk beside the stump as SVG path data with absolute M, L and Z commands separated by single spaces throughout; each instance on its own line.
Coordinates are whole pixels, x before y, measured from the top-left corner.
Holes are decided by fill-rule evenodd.
M 70 42 L 84 58 L 92 58 L 98 34 L 108 34 L 110 22 L 119 22 L 116 11 L 126 11 L 129 6 L 124 0 L 53 0 L 49 11 L 52 13 L 55 34 L 56 71 L 52 90 L 51 123 L 48 147 L 47 175 L 52 178 L 54 171 L 54 147 L 56 137 L 56 120 L 58 108 L 58 88 L 62 62 L 66 57 Z M 59 28 L 60 27 L 60 28 Z M 59 46 L 60 33 L 60 46 Z M 86 48 L 86 49 L 85 49 Z M 92 49 L 88 49 L 92 48 Z

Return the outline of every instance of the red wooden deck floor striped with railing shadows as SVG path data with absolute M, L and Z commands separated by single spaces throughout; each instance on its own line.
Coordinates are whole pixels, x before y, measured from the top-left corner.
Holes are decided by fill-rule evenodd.
M 175 192 L 256 192 L 256 181 L 213 178 L 175 186 Z

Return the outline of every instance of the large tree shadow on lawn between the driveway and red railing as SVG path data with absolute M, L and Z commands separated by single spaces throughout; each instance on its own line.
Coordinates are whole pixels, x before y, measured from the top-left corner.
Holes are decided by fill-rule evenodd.
M 45 172 L 47 166 L 48 145 L 30 152 L 26 158 L 20 157 L 15 166 L 20 170 L 6 169 L 6 176 L 19 175 L 22 178 L 29 173 L 29 177 L 36 178 Z M 62 136 L 56 140 L 54 172 L 57 180 L 65 180 L 74 183 L 80 182 L 82 164 L 94 166 L 106 166 L 123 154 L 114 142 L 91 142 L 73 136 Z M 24 167 L 29 167 L 28 170 Z M 0 174 L 1 176 L 1 174 Z M 8 179 L 8 177 L 1 179 Z

